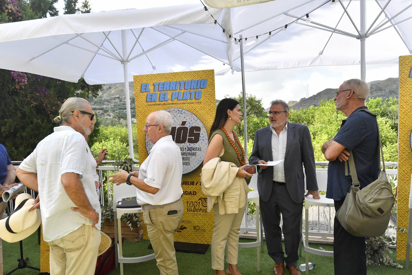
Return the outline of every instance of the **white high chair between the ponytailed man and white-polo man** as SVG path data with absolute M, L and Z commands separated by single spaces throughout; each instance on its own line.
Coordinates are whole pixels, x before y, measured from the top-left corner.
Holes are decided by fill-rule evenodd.
M 126 198 L 131 197 L 131 194 L 136 194 L 136 187 L 132 185 L 127 185 L 122 183 L 119 186 L 113 184 L 113 212 L 115 216 L 115 244 L 117 240 L 119 243 L 115 245 L 116 252 L 116 267 L 117 263 L 120 263 L 120 275 L 123 275 L 123 263 L 141 263 L 145 261 L 150 261 L 155 259 L 155 254 L 140 256 L 140 257 L 123 257 L 122 250 L 122 226 L 120 218 L 125 213 L 140 213 L 143 212 L 141 207 L 136 208 L 117 208 L 117 202 Z

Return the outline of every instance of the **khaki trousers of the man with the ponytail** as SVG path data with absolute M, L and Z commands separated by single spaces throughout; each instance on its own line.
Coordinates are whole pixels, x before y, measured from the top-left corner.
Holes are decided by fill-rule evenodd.
M 100 232 L 96 227 L 82 225 L 50 245 L 51 275 L 94 275 Z

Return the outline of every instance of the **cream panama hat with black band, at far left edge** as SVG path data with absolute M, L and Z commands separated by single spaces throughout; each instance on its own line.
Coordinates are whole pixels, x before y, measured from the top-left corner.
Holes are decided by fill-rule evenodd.
M 26 193 L 16 197 L 13 214 L 0 221 L 0 238 L 6 242 L 18 242 L 33 234 L 40 226 L 40 209 L 34 209 L 34 199 Z

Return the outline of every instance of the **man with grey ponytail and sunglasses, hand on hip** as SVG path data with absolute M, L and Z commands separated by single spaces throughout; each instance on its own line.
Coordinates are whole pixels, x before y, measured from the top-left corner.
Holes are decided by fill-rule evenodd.
M 83 137 L 90 134 L 93 118 L 86 99 L 68 98 L 54 118 L 59 126 L 16 171 L 24 185 L 39 193 L 32 209 L 40 207 L 53 275 L 92 275 L 96 268 L 101 211 Z

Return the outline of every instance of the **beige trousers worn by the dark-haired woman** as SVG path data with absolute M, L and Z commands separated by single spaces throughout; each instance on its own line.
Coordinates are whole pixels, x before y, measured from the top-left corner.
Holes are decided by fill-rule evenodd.
M 237 264 L 237 254 L 239 248 L 240 224 L 245 214 L 246 205 L 239 208 L 236 214 L 219 214 L 219 206 L 213 206 L 215 211 L 215 226 L 211 244 L 212 268 L 215 270 L 225 269 L 225 246 L 227 242 L 226 261 L 230 264 Z

